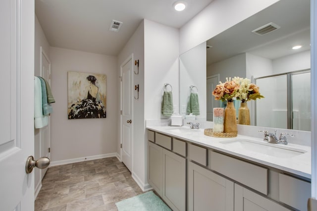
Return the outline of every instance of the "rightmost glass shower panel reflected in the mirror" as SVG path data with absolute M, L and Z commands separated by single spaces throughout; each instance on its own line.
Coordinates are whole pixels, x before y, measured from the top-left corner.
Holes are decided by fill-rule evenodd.
M 292 75 L 292 129 L 311 131 L 311 73 Z

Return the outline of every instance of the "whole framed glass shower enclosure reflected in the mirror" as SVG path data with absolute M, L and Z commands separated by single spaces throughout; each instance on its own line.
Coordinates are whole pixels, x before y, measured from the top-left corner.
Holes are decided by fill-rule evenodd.
M 256 79 L 266 96 L 256 102 L 256 126 L 311 131 L 310 79 L 310 70 Z

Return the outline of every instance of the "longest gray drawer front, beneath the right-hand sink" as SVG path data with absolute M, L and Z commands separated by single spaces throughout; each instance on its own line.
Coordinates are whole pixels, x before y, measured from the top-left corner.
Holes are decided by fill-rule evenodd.
M 267 195 L 268 169 L 210 151 L 211 169 Z

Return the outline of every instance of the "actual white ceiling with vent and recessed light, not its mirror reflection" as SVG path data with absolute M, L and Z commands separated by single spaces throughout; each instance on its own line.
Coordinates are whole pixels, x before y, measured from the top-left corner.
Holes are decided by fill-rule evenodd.
M 116 56 L 143 19 L 180 28 L 212 0 L 185 0 L 181 12 L 175 1 L 35 0 L 35 13 L 51 46 Z M 123 22 L 118 32 L 112 20 Z

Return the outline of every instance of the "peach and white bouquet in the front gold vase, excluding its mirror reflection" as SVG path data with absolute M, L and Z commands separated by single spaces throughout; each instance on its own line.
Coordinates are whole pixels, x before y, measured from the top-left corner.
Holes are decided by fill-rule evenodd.
M 238 95 L 239 88 L 239 84 L 231 80 L 231 78 L 226 78 L 225 83 L 219 82 L 219 84 L 216 85 L 216 87 L 212 91 L 212 95 L 215 97 L 216 100 L 232 101 L 233 98 Z

